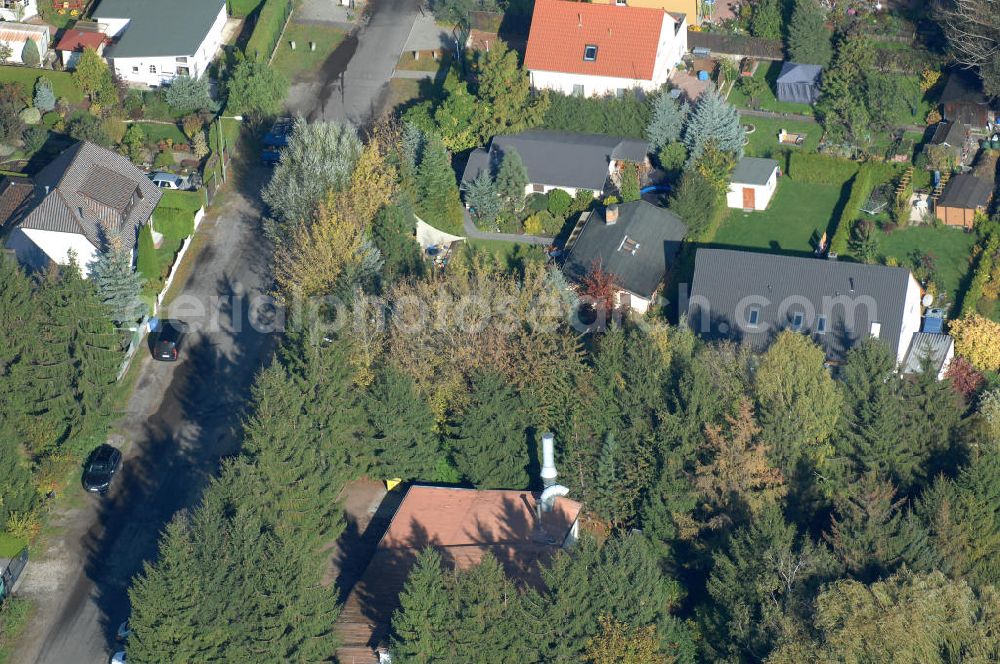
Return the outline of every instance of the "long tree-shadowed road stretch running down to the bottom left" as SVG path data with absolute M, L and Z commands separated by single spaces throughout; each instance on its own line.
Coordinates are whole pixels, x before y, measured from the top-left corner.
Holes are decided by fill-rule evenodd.
M 12 662 L 107 662 L 128 616 L 129 583 L 155 557 L 159 533 L 175 512 L 197 504 L 220 459 L 238 450 L 236 427 L 274 341 L 250 324 L 247 306 L 271 286 L 256 199 L 263 178 L 259 168 L 243 174 L 199 228 L 206 244 L 168 307 L 170 317 L 192 324 L 182 358 L 137 355 L 141 374 L 117 427 L 127 449 L 117 484 L 107 497 L 88 496 L 83 507 L 54 515 L 64 530 L 25 573 L 20 593 L 37 612 Z

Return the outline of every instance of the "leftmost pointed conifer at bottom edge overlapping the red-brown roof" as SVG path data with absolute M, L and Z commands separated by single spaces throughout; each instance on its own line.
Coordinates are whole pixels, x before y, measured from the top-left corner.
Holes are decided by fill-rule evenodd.
M 428 547 L 417 556 L 392 616 L 393 660 L 398 658 L 402 664 L 447 660 L 449 630 L 455 620 L 451 602 L 441 554 Z

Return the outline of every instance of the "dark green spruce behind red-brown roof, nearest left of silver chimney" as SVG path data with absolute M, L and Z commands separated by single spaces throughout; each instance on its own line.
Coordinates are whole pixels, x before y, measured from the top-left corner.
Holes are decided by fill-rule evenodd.
M 528 443 L 524 404 L 499 374 L 481 373 L 472 382 L 469 404 L 452 426 L 455 466 L 480 489 L 528 486 Z

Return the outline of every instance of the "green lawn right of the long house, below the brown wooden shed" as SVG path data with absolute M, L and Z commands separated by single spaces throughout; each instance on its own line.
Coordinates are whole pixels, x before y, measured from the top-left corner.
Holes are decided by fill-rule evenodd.
M 969 271 L 969 257 L 976 244 L 976 236 L 958 228 L 918 226 L 905 228 L 881 236 L 884 256 L 892 256 L 900 265 L 910 265 L 915 251 L 934 255 L 937 262 L 937 283 L 957 301 L 962 278 Z

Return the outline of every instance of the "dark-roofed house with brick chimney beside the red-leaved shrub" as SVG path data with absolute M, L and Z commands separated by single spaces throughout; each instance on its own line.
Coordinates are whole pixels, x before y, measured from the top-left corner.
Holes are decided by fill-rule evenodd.
M 563 264 L 566 276 L 580 281 L 600 265 L 618 277 L 624 290 L 646 300 L 663 281 L 687 234 L 679 217 L 646 201 L 595 210 L 580 224 Z

